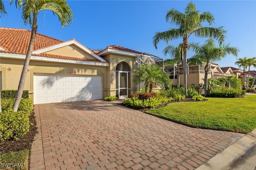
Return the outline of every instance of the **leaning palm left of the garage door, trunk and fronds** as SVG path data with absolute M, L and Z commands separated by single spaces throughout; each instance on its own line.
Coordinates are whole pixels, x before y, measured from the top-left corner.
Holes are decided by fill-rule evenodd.
M 62 28 L 63 26 L 68 26 L 69 24 L 71 24 L 73 18 L 71 8 L 67 4 L 66 0 L 16 0 L 16 7 L 19 7 L 19 9 L 22 8 L 22 19 L 24 20 L 24 24 L 29 24 L 32 28 L 32 32 L 28 46 L 28 51 L 20 76 L 18 91 L 13 106 L 14 111 L 18 110 L 20 99 L 22 97 L 26 75 L 28 71 L 28 65 L 36 39 L 37 17 L 39 12 L 42 10 L 51 10 L 53 14 L 56 14 L 58 16 Z

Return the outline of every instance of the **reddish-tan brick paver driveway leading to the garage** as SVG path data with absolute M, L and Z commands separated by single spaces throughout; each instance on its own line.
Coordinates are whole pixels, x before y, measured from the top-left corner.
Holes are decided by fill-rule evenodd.
M 34 106 L 30 169 L 194 169 L 244 134 L 186 127 L 106 101 Z

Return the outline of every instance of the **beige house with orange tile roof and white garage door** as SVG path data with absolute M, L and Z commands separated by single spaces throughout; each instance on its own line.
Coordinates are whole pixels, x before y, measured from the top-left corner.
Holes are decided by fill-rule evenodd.
M 18 88 L 30 35 L 28 30 L 0 28 L 0 90 Z M 142 88 L 132 81 L 135 67 L 162 61 L 118 45 L 97 52 L 75 39 L 36 34 L 24 90 L 34 104 L 126 98 Z

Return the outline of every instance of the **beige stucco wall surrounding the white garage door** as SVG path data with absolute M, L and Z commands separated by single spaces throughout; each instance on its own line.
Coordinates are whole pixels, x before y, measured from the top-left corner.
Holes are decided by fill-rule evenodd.
M 1 58 L 0 71 L 2 71 L 2 89 L 18 89 L 20 81 L 20 75 L 24 60 L 22 59 L 6 59 Z M 8 68 L 11 70 L 8 71 Z M 102 66 L 90 66 L 90 65 L 78 65 L 70 63 L 53 63 L 45 61 L 30 61 L 28 67 L 28 74 L 26 76 L 26 83 L 24 90 L 30 91 L 30 98 L 33 101 L 33 89 L 34 89 L 34 73 L 49 73 L 59 75 L 70 75 L 71 71 L 75 71 L 76 75 L 100 75 L 102 76 L 102 89 L 107 86 L 106 79 L 108 78 L 107 67 Z M 106 97 L 103 93 L 102 99 Z

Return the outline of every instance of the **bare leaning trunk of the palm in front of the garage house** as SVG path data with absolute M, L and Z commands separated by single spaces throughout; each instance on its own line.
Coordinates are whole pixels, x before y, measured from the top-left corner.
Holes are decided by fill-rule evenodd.
M 26 81 L 26 76 L 28 73 L 28 65 L 29 65 L 29 61 L 30 61 L 30 57 L 32 55 L 32 51 L 34 48 L 34 44 L 35 44 L 35 40 L 36 40 L 36 30 L 37 30 L 37 13 L 33 14 L 33 25 L 32 25 L 32 32 L 31 32 L 31 37 L 30 37 L 30 42 L 28 45 L 28 52 L 24 61 L 24 65 L 23 65 L 23 69 L 21 72 L 21 76 L 20 76 L 20 82 L 19 82 L 19 86 L 18 86 L 18 91 L 15 97 L 15 101 L 14 101 L 14 105 L 13 105 L 13 111 L 18 111 L 18 107 L 20 104 L 20 99 L 22 97 L 22 93 L 23 93 L 23 89 L 24 89 L 24 85 L 25 85 L 25 81 Z

